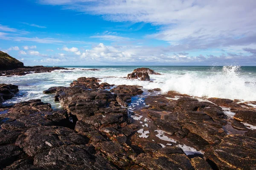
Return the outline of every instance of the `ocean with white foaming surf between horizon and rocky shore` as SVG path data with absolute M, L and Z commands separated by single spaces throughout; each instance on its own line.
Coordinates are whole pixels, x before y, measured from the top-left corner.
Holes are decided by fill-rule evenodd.
M 115 85 L 142 85 L 145 91 L 160 88 L 161 94 L 177 91 L 198 97 L 218 97 L 256 101 L 256 67 L 254 66 L 61 66 L 69 70 L 51 73 L 27 74 L 26 76 L 0 77 L 1 83 L 15 84 L 20 92 L 6 103 L 16 103 L 29 99 L 42 99 L 53 108 L 54 94 L 43 94 L 53 86 L 69 86 L 79 77 L 98 77 L 102 82 Z M 153 82 L 130 80 L 124 77 L 135 68 L 146 67 L 162 75 L 150 75 Z M 74 69 L 71 69 L 74 68 Z M 99 71 L 83 69 L 96 68 Z

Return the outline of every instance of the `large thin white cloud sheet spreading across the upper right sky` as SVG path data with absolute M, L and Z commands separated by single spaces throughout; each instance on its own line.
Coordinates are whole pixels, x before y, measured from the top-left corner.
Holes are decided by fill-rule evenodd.
M 115 22 L 151 23 L 147 37 L 190 49 L 250 45 L 256 38 L 255 0 L 40 0 Z M 88 3 L 90 2 L 90 3 Z M 94 38 L 120 40 L 118 36 Z

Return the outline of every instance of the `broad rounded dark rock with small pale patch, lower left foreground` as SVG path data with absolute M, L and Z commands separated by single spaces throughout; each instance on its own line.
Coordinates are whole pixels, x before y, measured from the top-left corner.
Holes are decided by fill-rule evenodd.
M 32 127 L 19 136 L 15 144 L 20 146 L 29 156 L 35 156 L 53 147 L 85 143 L 87 141 L 84 137 L 67 127 L 39 126 Z

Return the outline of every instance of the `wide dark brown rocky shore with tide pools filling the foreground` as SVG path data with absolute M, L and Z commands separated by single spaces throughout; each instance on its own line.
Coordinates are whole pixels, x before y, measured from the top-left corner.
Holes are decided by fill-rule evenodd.
M 55 94 L 63 110 L 53 111 L 40 99 L 20 102 L 0 112 L 0 168 L 5 170 L 250 170 L 256 167 L 256 110 L 236 100 L 198 101 L 186 94 L 145 98 L 143 115 L 148 127 L 160 131 L 168 144 L 141 137 L 138 119 L 128 112 L 141 86 L 100 83 L 81 77 L 70 87 L 44 91 Z M 14 85 L 1 85 L 10 93 Z M 112 88 L 111 88 L 112 87 Z M 104 89 L 110 89 L 104 90 Z M 2 91 L 6 91 L 2 90 Z M 13 90 L 14 89 L 14 90 Z M 160 89 L 154 89 L 160 91 Z M 13 96 L 10 94 L 10 97 Z M 253 102 L 252 102 L 253 103 Z M 230 108 L 233 118 L 225 113 Z M 143 118 L 144 119 L 144 118 Z M 175 140 L 169 140 L 170 138 Z M 200 154 L 187 154 L 189 146 Z M 197 152 L 198 153 L 198 152 Z

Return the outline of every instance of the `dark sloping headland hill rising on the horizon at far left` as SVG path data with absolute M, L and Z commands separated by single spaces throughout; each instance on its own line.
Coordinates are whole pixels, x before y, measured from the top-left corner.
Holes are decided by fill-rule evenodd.
M 10 70 L 14 68 L 22 68 L 23 62 L 9 56 L 7 53 L 0 51 L 0 70 Z

